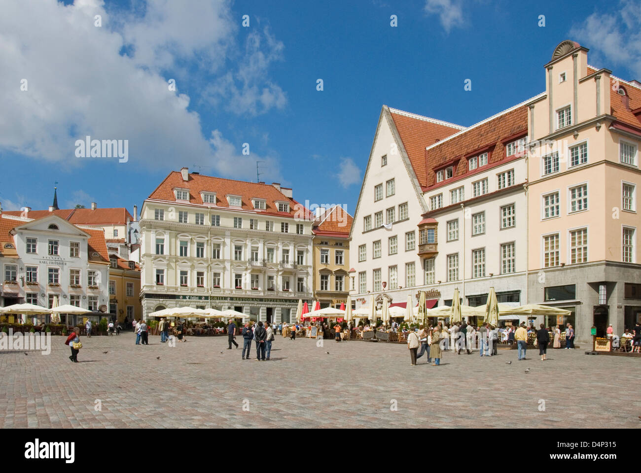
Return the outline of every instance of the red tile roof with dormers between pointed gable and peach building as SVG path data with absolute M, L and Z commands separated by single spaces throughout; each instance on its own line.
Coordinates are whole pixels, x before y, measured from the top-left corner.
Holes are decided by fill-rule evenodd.
M 508 109 L 510 110 L 510 109 Z M 488 147 L 488 165 L 498 163 L 506 159 L 505 145 L 501 140 L 504 138 L 518 136 L 520 133 L 526 135 L 528 132 L 528 106 L 517 106 L 513 110 L 501 113 L 493 119 L 481 122 L 478 126 L 472 125 L 469 129 L 462 131 L 456 137 L 444 140 L 426 150 L 428 160 L 428 185 L 424 190 L 431 190 L 442 185 L 448 185 L 452 179 L 445 179 L 440 183 L 436 181 L 435 169 L 458 159 L 455 165 L 453 179 L 459 176 L 467 176 L 470 173 L 483 172 L 487 167 L 477 168 L 469 171 L 467 156 L 475 150 Z

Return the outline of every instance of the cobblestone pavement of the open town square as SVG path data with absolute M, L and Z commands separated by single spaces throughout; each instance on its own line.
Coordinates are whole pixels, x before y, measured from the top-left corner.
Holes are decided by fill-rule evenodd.
M 62 336 L 49 355 L 1 351 L 0 427 L 641 424 L 638 359 L 560 349 L 547 361 L 538 350 L 517 361 L 515 350 L 501 349 L 489 358 L 446 352 L 440 367 L 425 358 L 414 367 L 405 345 L 318 347 L 277 335 L 271 360 L 257 363 L 254 346 L 251 361 L 241 360 L 241 349 L 226 350 L 226 336 L 187 337 L 175 347 L 149 338 L 144 346 L 133 333 L 83 337 L 79 363 L 69 361 Z

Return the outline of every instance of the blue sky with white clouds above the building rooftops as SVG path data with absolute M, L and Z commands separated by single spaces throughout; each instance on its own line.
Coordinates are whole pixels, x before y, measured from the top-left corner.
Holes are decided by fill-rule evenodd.
M 353 213 L 383 104 L 469 126 L 542 92 L 565 39 L 641 79 L 640 25 L 638 0 L 8 2 L 0 201 L 46 208 L 57 181 L 60 206 L 131 211 L 171 170 L 255 181 L 260 160 Z M 86 135 L 127 139 L 128 162 L 76 157 Z

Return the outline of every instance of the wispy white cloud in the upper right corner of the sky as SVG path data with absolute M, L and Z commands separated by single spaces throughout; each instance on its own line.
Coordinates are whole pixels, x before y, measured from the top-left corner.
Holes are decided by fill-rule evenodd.
M 635 74 L 633 79 L 641 79 L 641 1 L 620 1 L 613 11 L 592 13 L 570 29 L 570 38 L 590 47 L 591 64 L 625 67 Z

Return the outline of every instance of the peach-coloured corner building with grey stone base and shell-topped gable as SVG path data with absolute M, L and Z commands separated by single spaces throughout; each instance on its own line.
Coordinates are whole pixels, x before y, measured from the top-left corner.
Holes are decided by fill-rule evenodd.
M 570 310 L 579 342 L 641 319 L 637 257 L 641 84 L 564 41 L 545 65 L 529 136 L 529 302 Z

